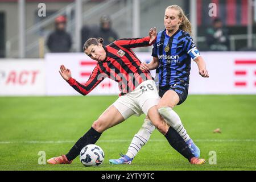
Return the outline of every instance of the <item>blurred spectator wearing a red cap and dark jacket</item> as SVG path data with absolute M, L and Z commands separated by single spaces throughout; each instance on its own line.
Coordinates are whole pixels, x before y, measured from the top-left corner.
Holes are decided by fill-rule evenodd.
M 67 19 L 65 16 L 58 16 L 55 19 L 55 31 L 47 40 L 47 46 L 51 52 L 69 52 L 72 46 L 71 36 L 66 32 Z

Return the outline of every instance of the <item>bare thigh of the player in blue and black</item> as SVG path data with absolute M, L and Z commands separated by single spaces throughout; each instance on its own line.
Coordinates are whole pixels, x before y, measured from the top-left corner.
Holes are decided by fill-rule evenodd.
M 175 107 L 180 101 L 179 95 L 174 90 L 167 90 L 158 103 L 159 107 Z

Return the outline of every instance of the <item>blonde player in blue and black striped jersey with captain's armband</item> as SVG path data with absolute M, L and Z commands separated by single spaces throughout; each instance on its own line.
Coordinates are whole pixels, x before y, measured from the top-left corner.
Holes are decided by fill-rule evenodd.
M 154 43 L 153 60 L 149 64 L 142 63 L 140 68 L 142 71 L 157 68 L 159 96 L 162 97 L 158 104 L 159 114 L 180 135 L 179 139 L 184 140 L 192 154 L 199 158 L 199 148 L 189 138 L 179 115 L 173 108 L 183 103 L 187 98 L 191 59 L 197 63 L 199 74 L 202 77 L 209 77 L 208 71 L 190 36 L 191 23 L 181 7 L 177 5 L 167 7 L 164 15 L 164 26 L 166 29 L 158 32 Z M 119 159 L 112 159 L 110 163 L 131 163 L 141 147 L 147 143 L 154 129 L 155 127 L 150 120 L 146 118 L 141 130 L 135 134 L 126 155 L 122 155 Z

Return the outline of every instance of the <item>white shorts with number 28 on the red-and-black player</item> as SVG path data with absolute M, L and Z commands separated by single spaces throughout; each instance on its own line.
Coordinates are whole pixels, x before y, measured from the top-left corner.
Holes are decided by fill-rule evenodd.
M 114 102 L 115 108 L 127 119 L 131 115 L 139 116 L 148 113 L 148 110 L 158 105 L 160 97 L 154 80 L 143 81 L 133 90 L 121 96 Z

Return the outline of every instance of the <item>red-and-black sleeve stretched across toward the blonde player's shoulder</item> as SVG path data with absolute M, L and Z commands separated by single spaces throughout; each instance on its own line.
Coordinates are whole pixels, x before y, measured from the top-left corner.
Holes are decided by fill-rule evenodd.
M 156 40 L 156 39 L 155 39 Z M 115 40 L 115 44 L 122 46 L 124 48 L 136 48 L 136 47 L 146 47 L 154 44 L 154 41 L 150 42 L 150 37 L 146 36 L 144 38 L 126 38 Z

